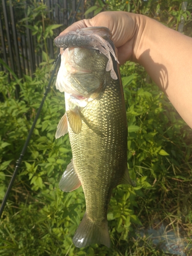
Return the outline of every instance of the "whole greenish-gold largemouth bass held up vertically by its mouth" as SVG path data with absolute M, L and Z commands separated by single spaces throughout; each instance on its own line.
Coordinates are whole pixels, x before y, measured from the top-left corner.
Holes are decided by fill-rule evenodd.
M 59 187 L 67 192 L 82 185 L 86 199 L 86 213 L 73 238 L 77 247 L 110 247 L 106 216 L 112 190 L 132 184 L 123 89 L 110 38 L 107 28 L 92 27 L 55 39 L 57 47 L 66 49 L 56 80 L 56 88 L 65 92 L 66 113 L 56 138 L 69 132 L 73 154 Z

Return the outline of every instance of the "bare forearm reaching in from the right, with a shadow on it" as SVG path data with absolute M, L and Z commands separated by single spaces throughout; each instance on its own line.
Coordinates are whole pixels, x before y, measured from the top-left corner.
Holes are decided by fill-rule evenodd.
M 139 46 L 133 58 L 192 128 L 192 38 L 143 15 L 139 19 Z

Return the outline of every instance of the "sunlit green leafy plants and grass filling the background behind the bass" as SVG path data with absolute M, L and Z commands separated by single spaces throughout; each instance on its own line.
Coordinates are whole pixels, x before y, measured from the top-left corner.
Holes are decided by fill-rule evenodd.
M 10 82 L 8 73 L 0 72 L 0 200 L 50 79 L 53 59 L 47 37 L 37 30 L 48 14 L 42 4 L 31 1 L 35 19 L 29 23 L 43 39 L 37 46 L 44 49 L 43 61 L 33 76 L 18 79 L 12 72 Z M 86 15 L 108 10 L 141 13 L 175 30 L 183 17 L 184 34 L 192 36 L 192 3 L 188 1 L 187 11 L 181 6 L 180 0 L 97 0 L 88 5 Z M 20 21 L 22 27 L 22 17 Z M 44 24 L 45 30 L 50 25 Z M 57 35 L 53 27 L 49 31 L 50 37 Z M 58 188 L 72 153 L 68 135 L 55 140 L 65 103 L 53 82 L 0 220 L 1 255 L 192 255 L 192 132 L 141 66 L 127 62 L 120 71 L 129 125 L 128 165 L 137 187 L 119 185 L 113 191 L 108 212 L 111 248 L 79 249 L 72 243 L 86 205 L 81 187 L 71 193 Z M 179 241 L 175 253 L 156 246 L 145 232 L 162 224 L 166 239 L 172 231 Z

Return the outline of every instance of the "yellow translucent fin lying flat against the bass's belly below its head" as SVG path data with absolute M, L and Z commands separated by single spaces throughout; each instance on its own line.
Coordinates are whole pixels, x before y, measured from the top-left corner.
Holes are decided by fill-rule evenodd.
M 66 113 L 67 113 L 68 122 L 71 126 L 72 131 L 75 134 L 79 134 L 81 131 L 82 121 L 81 121 L 78 107 L 76 106 L 74 110 L 68 110 Z

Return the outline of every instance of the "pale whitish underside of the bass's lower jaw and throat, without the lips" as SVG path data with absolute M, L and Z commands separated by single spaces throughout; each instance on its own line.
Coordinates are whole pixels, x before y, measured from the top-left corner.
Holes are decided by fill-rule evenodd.
M 77 99 L 90 101 L 102 90 L 108 58 L 95 49 L 67 48 L 61 55 L 56 88 Z

